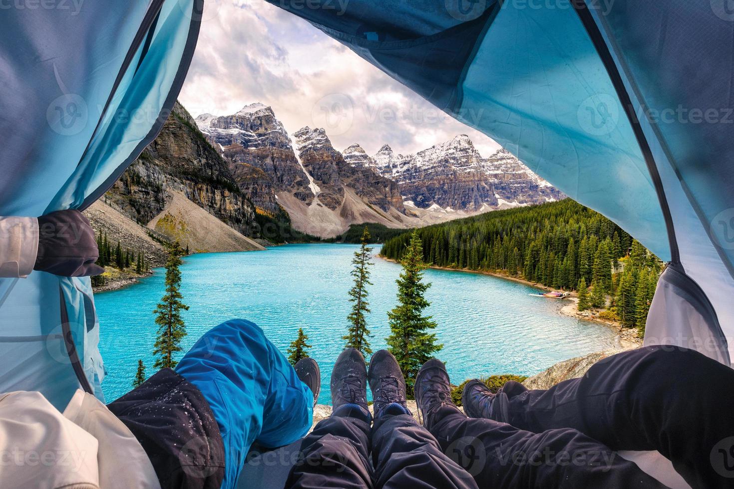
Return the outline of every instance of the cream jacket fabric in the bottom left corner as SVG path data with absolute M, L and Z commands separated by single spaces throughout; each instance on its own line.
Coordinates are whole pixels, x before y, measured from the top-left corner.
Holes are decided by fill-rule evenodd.
M 160 489 L 134 435 L 94 396 L 62 414 L 40 392 L 0 394 L 2 488 Z

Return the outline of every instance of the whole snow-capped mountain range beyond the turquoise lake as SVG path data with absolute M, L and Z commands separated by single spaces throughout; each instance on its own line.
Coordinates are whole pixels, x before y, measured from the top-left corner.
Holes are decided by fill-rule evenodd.
M 415 227 L 563 198 L 509 152 L 482 158 L 465 134 L 413 155 L 385 144 L 370 156 L 359 144 L 335 150 L 323 128 L 289 136 L 262 103 L 195 121 L 255 207 L 287 212 L 310 234 L 362 222 Z

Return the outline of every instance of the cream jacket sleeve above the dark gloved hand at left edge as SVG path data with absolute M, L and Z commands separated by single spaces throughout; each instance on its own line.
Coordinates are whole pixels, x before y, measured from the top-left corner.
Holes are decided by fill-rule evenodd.
M 25 278 L 38 254 L 38 219 L 0 216 L 0 278 Z

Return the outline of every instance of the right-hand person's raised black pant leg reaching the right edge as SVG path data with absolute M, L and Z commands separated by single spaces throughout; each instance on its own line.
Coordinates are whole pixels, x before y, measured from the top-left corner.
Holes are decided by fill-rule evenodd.
M 734 479 L 734 369 L 686 348 L 609 356 L 547 391 L 517 384 L 495 397 L 493 419 L 536 433 L 570 427 L 614 450 L 658 450 L 694 488 Z

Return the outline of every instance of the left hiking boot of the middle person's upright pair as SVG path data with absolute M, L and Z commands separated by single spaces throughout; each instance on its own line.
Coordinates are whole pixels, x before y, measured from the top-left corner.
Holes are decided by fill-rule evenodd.
M 336 359 L 331 373 L 333 413 L 343 405 L 359 406 L 367 416 L 367 367 L 359 350 L 347 348 Z

